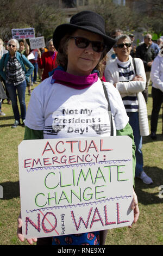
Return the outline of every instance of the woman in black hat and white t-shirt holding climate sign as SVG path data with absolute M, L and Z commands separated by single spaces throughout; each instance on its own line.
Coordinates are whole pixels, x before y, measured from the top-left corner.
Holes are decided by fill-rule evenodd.
M 133 140 L 133 131 L 128 124 L 128 117 L 118 90 L 110 83 L 103 87 L 103 58 L 115 44 L 115 39 L 105 34 L 103 18 L 92 12 L 82 11 L 72 16 L 70 23 L 58 26 L 53 34 L 53 44 L 57 54 L 58 68 L 52 76 L 44 80 L 33 91 L 28 105 L 26 132 L 24 139 L 75 138 L 85 136 L 121 136 L 128 135 Z M 98 77 L 99 76 L 99 77 Z M 113 126 L 108 115 L 109 97 Z M 73 124 L 89 118 L 81 116 L 81 109 L 91 111 L 89 125 L 86 122 Z M 65 111 L 66 109 L 66 111 Z M 68 109 L 68 113 L 67 113 Z M 75 113 L 71 115 L 69 112 Z M 87 111 L 88 112 L 88 111 Z M 56 120 L 59 120 L 59 122 Z M 62 121 L 64 119 L 64 121 Z M 89 118 L 90 119 L 90 118 Z M 67 120 L 67 122 L 66 122 Z M 82 119 L 83 120 L 83 119 Z M 97 120 L 97 121 L 96 121 Z M 70 125 L 71 124 L 71 125 Z M 82 127 L 82 132 L 78 132 Z M 87 127 L 87 129 L 86 129 Z M 112 129 L 111 129 L 112 127 Z M 71 128 L 71 131 L 70 131 Z M 133 170 L 135 170 L 135 144 L 133 141 Z M 137 197 L 133 190 L 134 223 L 139 217 Z M 18 217 L 17 235 L 21 241 L 22 220 Z M 70 235 L 71 245 L 104 245 L 107 231 L 93 232 L 94 239 L 87 240 L 87 234 Z M 37 240 L 37 245 L 67 245 L 66 236 L 28 239 L 29 243 Z M 100 241 L 99 241 L 100 240 Z

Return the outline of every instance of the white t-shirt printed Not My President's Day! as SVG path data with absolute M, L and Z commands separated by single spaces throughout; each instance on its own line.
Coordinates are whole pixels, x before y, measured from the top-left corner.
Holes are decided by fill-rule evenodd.
M 62 84 L 51 84 L 52 77 L 39 84 L 30 97 L 25 124 L 33 130 L 43 130 L 43 137 L 110 136 L 108 102 L 101 80 L 86 89 L 73 89 Z M 116 130 L 128 123 L 120 93 L 105 83 Z

